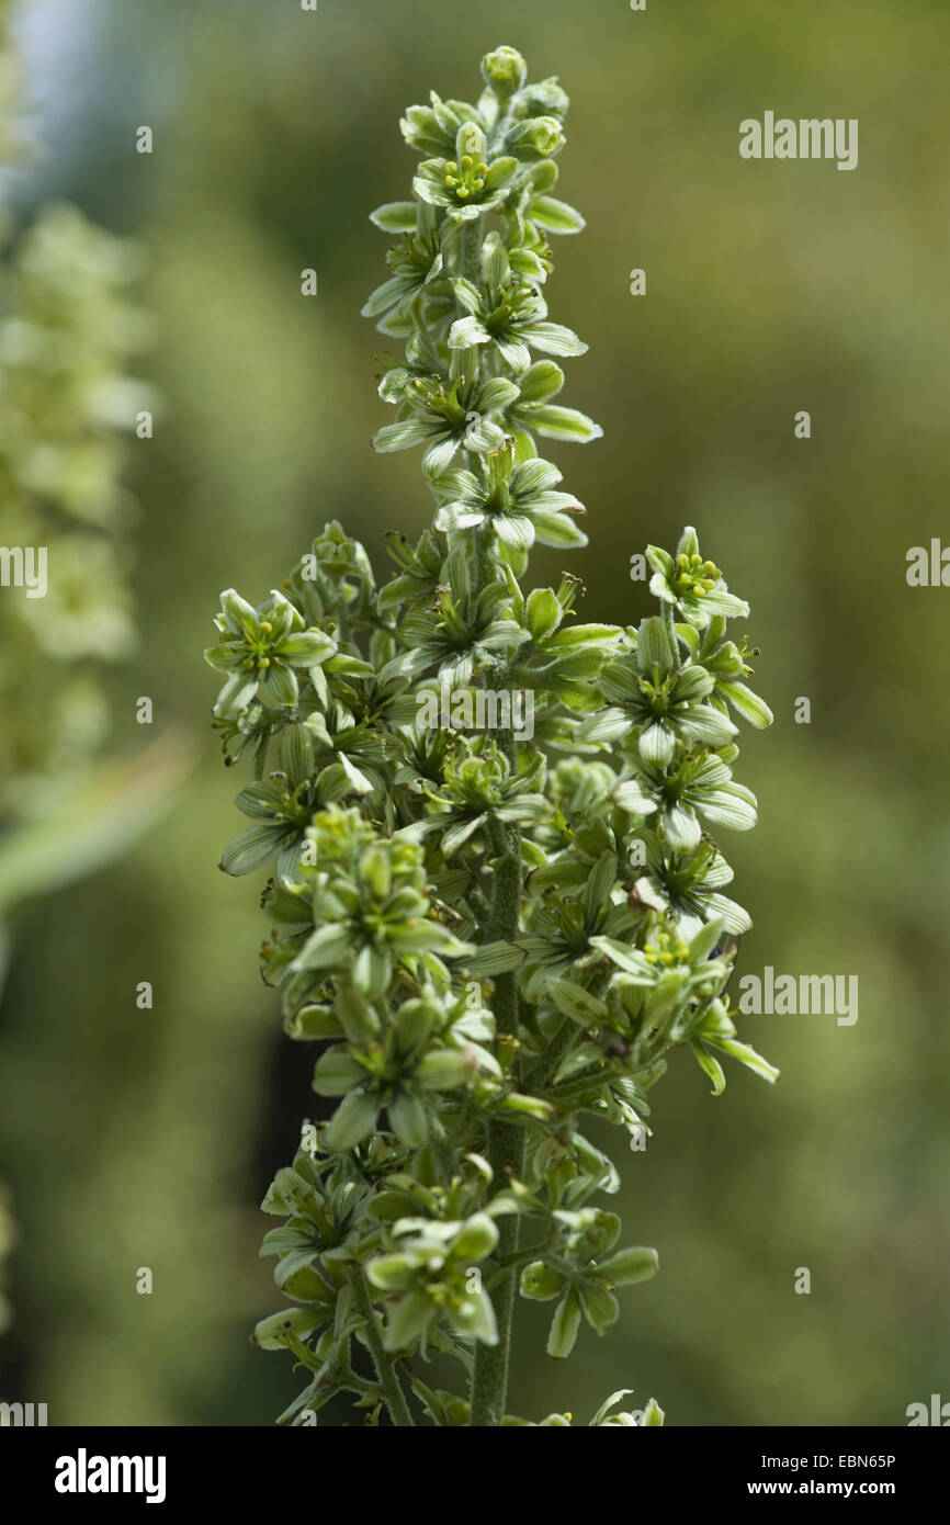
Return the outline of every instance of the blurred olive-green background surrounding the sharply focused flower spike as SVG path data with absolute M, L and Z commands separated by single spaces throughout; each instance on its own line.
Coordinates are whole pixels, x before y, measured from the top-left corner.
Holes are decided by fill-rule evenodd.
M 564 401 L 605 430 L 547 451 L 592 544 L 540 552 L 532 580 L 569 567 L 583 619 L 634 622 L 630 557 L 698 528 L 752 602 L 776 714 L 740 764 L 759 828 L 723 843 L 755 918 L 740 968 L 860 982 L 849 1028 L 744 1020 L 775 1090 L 730 1066 L 714 1100 L 688 1057 L 671 1068 L 656 1136 L 622 1161 L 625 1238 L 660 1275 L 563 1365 L 550 1310 L 526 1308 L 511 1408 L 586 1421 L 633 1388 L 671 1424 L 845 1426 L 950 1398 L 950 593 L 904 576 L 950 486 L 944 0 L 26 0 L 12 26 L 34 137 L 5 177 L 14 247 L 61 201 L 137 241 L 149 334 L 124 364 L 156 427 L 124 425 L 137 647 L 102 679 L 98 743 L 137 778 L 139 836 L 8 915 L 3 1397 L 50 1424 L 268 1424 L 299 1389 L 247 1336 L 281 1305 L 258 1203 L 313 1115 L 310 1058 L 258 978 L 258 886 L 215 866 L 239 781 L 201 651 L 218 592 L 265 596 L 326 518 L 381 580 L 384 532 L 427 523 L 418 453 L 369 448 L 392 342 L 360 317 L 387 249 L 367 212 L 409 194 L 401 110 L 474 98 L 509 43 L 572 96 L 560 194 L 589 226 L 557 242 L 547 296 L 590 345 Z M 765 110 L 859 117 L 859 169 L 743 162 L 738 124 Z M 140 695 L 154 744 L 178 738 L 174 778 L 137 767 Z

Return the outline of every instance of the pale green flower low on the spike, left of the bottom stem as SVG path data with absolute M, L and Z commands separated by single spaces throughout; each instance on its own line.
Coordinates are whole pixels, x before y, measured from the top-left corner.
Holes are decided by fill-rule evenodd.
M 392 1226 L 392 1254 L 371 1260 L 366 1275 L 387 1302 L 386 1348 L 406 1350 L 422 1344 L 430 1331 L 445 1322 L 464 1339 L 497 1345 L 491 1298 L 482 1278 L 473 1275 L 499 1241 L 499 1231 L 486 1212 L 476 1212 L 464 1223 L 438 1223 L 427 1218 L 401 1218 Z

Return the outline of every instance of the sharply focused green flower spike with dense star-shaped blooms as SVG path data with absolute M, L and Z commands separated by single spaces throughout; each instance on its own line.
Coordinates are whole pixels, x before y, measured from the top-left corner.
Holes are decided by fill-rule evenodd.
M 564 1357 L 657 1269 L 602 1205 L 619 1171 L 586 1128 L 615 1124 L 645 1168 L 630 1144 L 671 1054 L 717 1093 L 723 1055 L 776 1075 L 737 1042 L 750 921 L 709 834 L 756 819 L 732 715 L 772 715 L 726 634 L 747 605 L 692 529 L 648 549 L 636 628 L 579 624 L 567 572 L 523 589 L 535 541 L 587 543 L 538 445 L 601 430 L 555 401 L 586 346 L 544 297 L 550 235 L 584 226 L 552 194 L 567 96 L 511 47 L 482 75 L 476 105 L 410 107 L 413 198 L 372 214 L 395 242 L 364 311 L 406 340 L 374 442 L 421 447 L 432 528 L 392 535 L 378 587 L 326 525 L 281 592 L 223 595 L 207 651 L 226 761 L 253 758 L 221 866 L 271 865 L 264 976 L 337 1103 L 264 1202 L 288 1305 L 255 1339 L 307 1371 L 278 1423 L 340 1392 L 371 1424 L 535 1423 L 506 1408 L 518 1298 L 552 1304 Z M 590 1424 L 660 1424 L 653 1398 L 618 1409 L 628 1391 Z

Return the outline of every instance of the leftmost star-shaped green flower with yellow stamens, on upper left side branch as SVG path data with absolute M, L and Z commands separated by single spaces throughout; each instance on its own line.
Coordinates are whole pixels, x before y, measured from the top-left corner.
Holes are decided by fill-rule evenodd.
M 293 709 L 299 697 L 296 668 L 317 666 L 337 650 L 326 631 L 305 630 L 303 616 L 278 592 L 252 608 L 233 587 L 227 589 L 215 625 L 224 639 L 209 647 L 204 659 L 230 674 L 213 709 L 226 720 L 239 717 L 255 698 L 273 709 Z

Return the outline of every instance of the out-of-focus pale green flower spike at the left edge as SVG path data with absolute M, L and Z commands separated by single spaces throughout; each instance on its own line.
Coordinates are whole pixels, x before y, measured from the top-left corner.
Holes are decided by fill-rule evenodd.
M 0 596 L 3 816 L 35 816 L 81 779 L 108 730 L 104 669 L 136 642 L 134 503 L 119 480 L 146 396 L 125 374 L 143 342 L 136 273 L 134 249 L 67 204 L 44 206 L 5 252 L 3 544 L 43 547 L 47 586 Z

